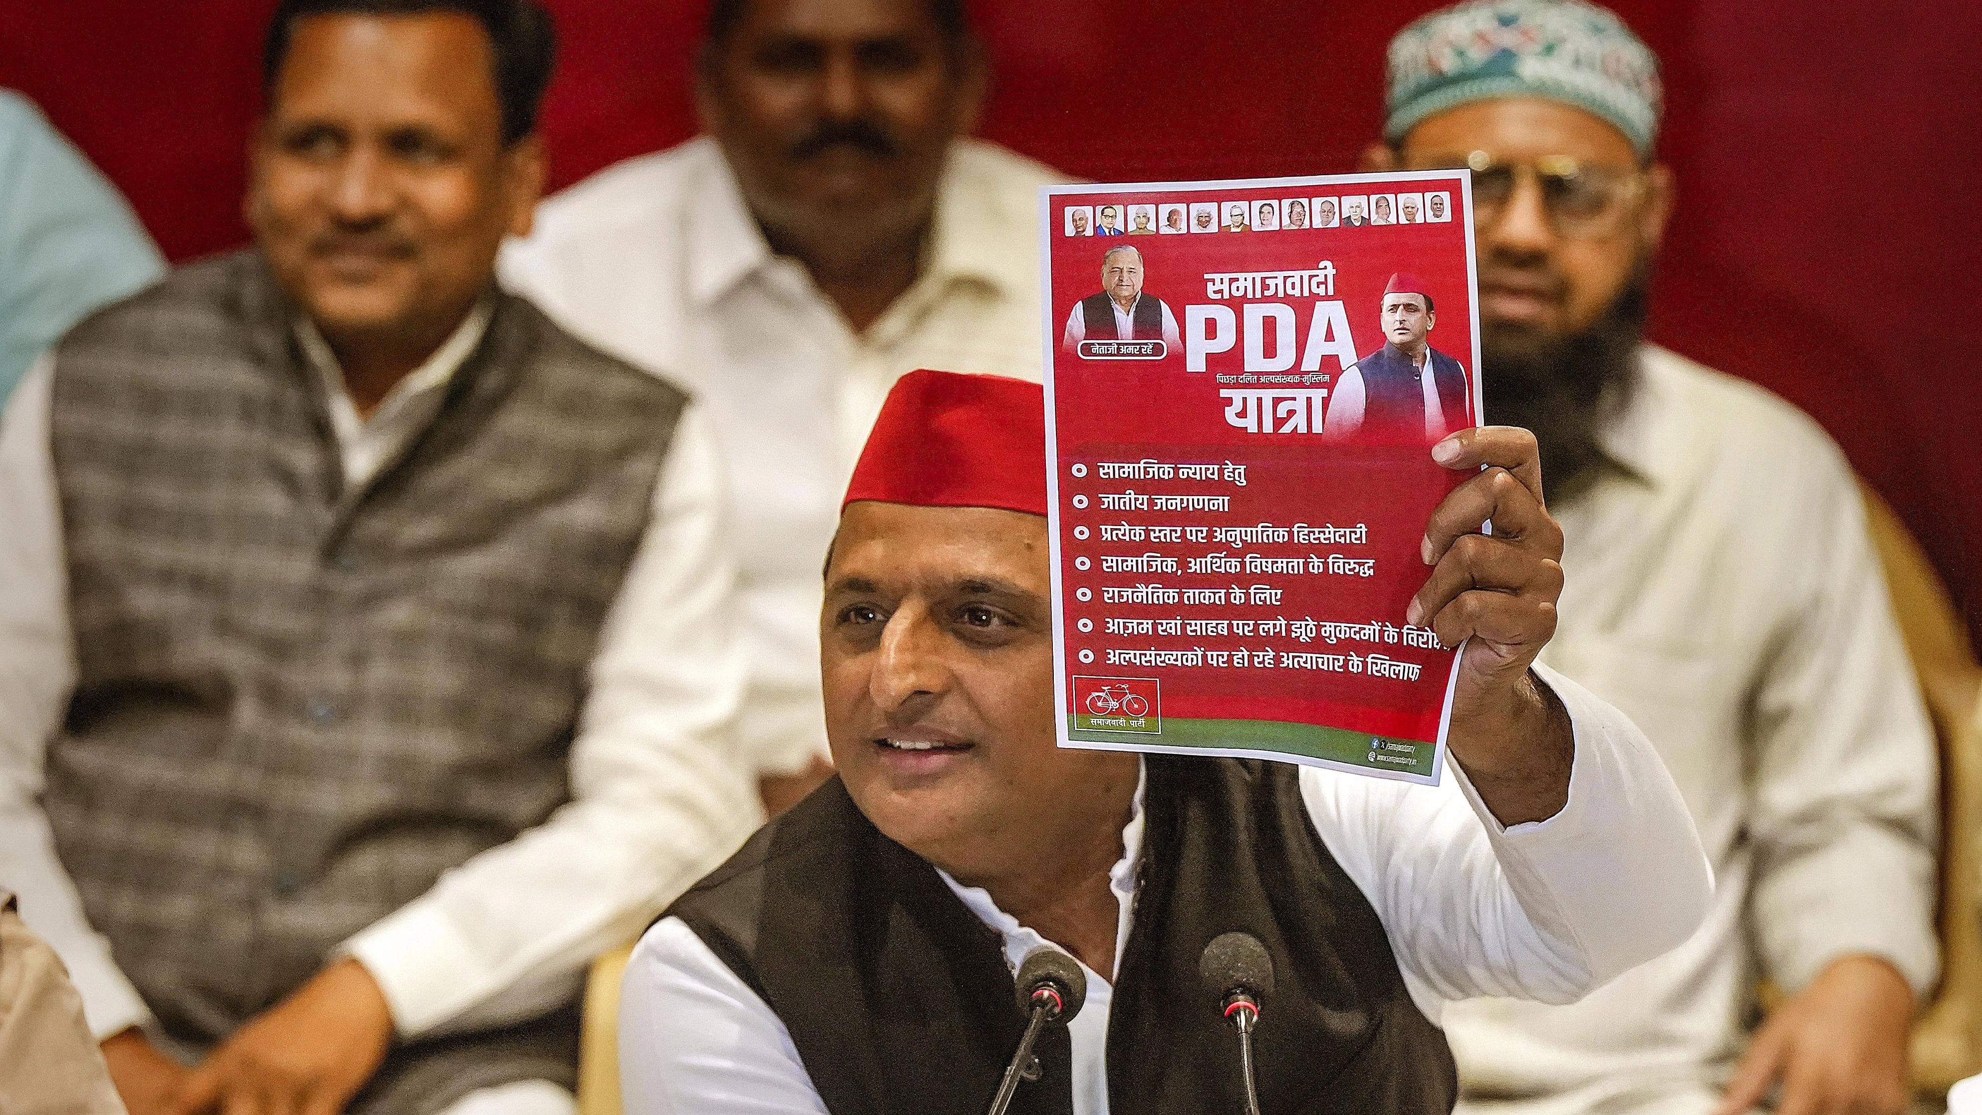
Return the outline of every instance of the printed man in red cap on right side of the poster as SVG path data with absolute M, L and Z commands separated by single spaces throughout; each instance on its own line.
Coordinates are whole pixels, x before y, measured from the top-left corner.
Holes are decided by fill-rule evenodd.
M 1431 347 L 1439 321 L 1425 280 L 1399 272 L 1383 286 L 1383 347 L 1342 373 L 1322 433 L 1330 438 L 1439 440 L 1473 425 L 1467 369 Z

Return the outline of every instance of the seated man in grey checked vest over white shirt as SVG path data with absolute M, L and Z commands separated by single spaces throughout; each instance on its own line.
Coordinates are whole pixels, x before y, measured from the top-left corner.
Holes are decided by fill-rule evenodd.
M 277 8 L 256 246 L 0 423 L 0 879 L 135 1115 L 569 1115 L 759 815 L 706 419 L 494 284 L 549 18 L 386 8 Z

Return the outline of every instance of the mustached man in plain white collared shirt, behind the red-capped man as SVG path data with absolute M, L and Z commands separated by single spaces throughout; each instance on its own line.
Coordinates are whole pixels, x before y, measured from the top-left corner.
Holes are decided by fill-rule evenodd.
M 547 200 L 503 256 L 563 325 L 708 405 L 767 772 L 825 756 L 819 556 L 888 387 L 1041 375 L 1037 190 L 1058 179 L 967 139 L 985 81 L 961 0 L 719 0 L 708 135 Z

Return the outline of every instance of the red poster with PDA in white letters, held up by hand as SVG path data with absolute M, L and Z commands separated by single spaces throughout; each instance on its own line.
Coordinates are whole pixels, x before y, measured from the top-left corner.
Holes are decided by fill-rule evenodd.
M 1467 175 L 1043 190 L 1060 746 L 1437 784 L 1405 623 L 1479 423 Z

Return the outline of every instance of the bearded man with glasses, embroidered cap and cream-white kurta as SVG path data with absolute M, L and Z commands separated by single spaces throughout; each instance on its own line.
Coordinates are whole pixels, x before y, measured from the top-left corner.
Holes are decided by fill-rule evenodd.
M 1657 123 L 1657 60 L 1590 4 L 1463 4 L 1389 48 L 1370 169 L 1471 169 L 1485 419 L 1538 434 L 1566 534 L 1542 661 L 1645 728 L 1718 881 L 1671 954 L 1568 1008 L 1463 1004 L 1447 1034 L 1481 1111 L 1780 1087 L 1782 1111 L 1893 1113 L 1936 970 L 1932 736 L 1837 446 L 1643 341 Z M 1750 1032 L 1764 978 L 1788 998 Z

